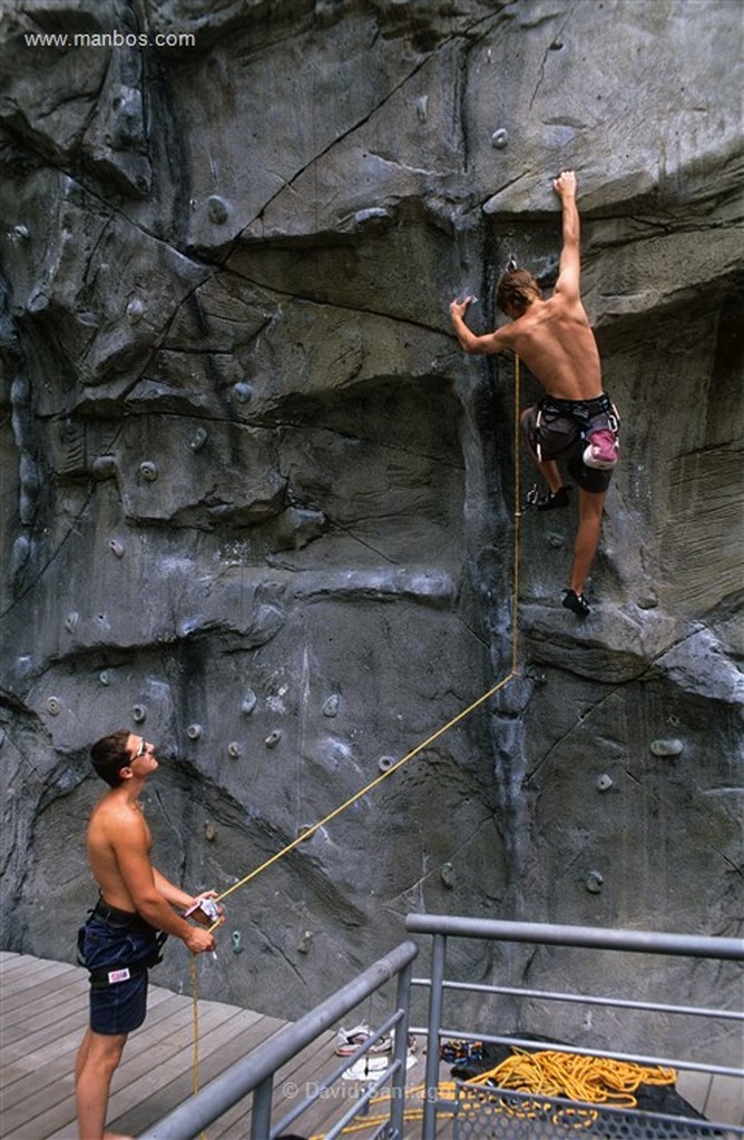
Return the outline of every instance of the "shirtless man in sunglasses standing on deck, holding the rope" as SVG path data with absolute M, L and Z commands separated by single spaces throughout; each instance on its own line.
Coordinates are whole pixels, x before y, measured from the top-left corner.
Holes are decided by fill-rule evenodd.
M 147 967 L 160 961 L 169 934 L 183 938 L 193 954 L 215 948 L 212 934 L 172 907 L 195 906 L 194 919 L 210 926 L 216 904 L 209 904 L 210 918 L 199 903 L 213 898 L 213 890 L 192 897 L 151 863 L 152 838 L 139 796 L 157 768 L 153 746 L 123 728 L 97 741 L 90 755 L 111 790 L 88 824 L 88 860 L 100 896 L 79 936 L 90 970 L 90 1027 L 75 1061 L 75 1097 L 80 1140 L 115 1140 L 116 1133 L 105 1131 L 108 1090 L 127 1035 L 145 1020 Z

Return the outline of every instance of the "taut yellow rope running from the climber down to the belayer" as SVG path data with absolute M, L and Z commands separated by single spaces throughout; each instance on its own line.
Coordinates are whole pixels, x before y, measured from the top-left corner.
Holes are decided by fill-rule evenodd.
M 391 764 L 389 768 L 387 768 L 385 772 L 382 772 L 374 780 L 370 781 L 370 783 L 366 784 L 364 788 L 359 789 L 359 791 L 355 792 L 354 796 L 350 796 L 347 800 L 345 800 L 343 804 L 339 805 L 339 807 L 334 808 L 332 812 L 329 812 L 329 814 L 325 815 L 325 816 L 323 816 L 322 820 L 318 820 L 317 823 L 314 823 L 312 826 L 305 829 L 301 834 L 297 836 L 296 839 L 293 839 L 291 842 L 286 844 L 285 847 L 282 847 L 281 850 L 278 850 L 274 855 L 269 856 L 269 858 L 265 860 L 259 866 L 254 868 L 252 871 L 250 871 L 248 874 L 245 874 L 237 882 L 234 882 L 232 887 L 227 888 L 227 890 L 224 890 L 221 893 L 221 895 L 218 895 L 213 899 L 216 903 L 223 902 L 225 898 L 227 898 L 234 891 L 240 890 L 241 887 L 244 887 L 246 883 L 251 882 L 251 880 L 258 878 L 259 874 L 261 874 L 264 871 L 266 871 L 269 866 L 273 866 L 274 863 L 278 863 L 280 860 L 284 858 L 285 855 L 289 855 L 290 852 L 294 850 L 296 847 L 299 847 L 299 845 L 302 844 L 302 842 L 305 842 L 305 840 L 310 839 L 315 834 L 316 831 L 320 831 L 321 828 L 324 828 L 332 820 L 335 820 L 339 815 L 341 815 L 342 812 L 346 812 L 349 807 L 351 807 L 353 804 L 356 804 L 364 796 L 367 796 L 371 791 L 373 791 L 377 787 L 379 787 L 379 784 L 381 784 L 383 780 L 388 780 L 391 775 L 394 775 L 394 773 L 396 773 L 399 768 L 402 768 L 404 764 L 407 764 L 409 760 L 412 760 L 415 756 L 419 756 L 420 752 L 422 752 L 427 748 L 429 748 L 436 740 L 438 740 L 440 736 L 444 736 L 445 733 L 450 732 L 450 730 L 453 728 L 461 720 L 464 720 L 466 717 L 470 716 L 471 712 L 475 712 L 475 710 L 477 708 L 479 708 L 482 705 L 485 705 L 485 702 L 487 700 L 490 700 L 492 697 L 494 697 L 495 693 L 498 693 L 500 689 L 503 689 L 504 685 L 507 685 L 510 681 L 513 679 L 515 676 L 517 676 L 517 659 L 518 659 L 517 606 L 518 606 L 518 602 L 519 602 L 519 551 L 520 551 L 520 527 L 519 527 L 519 523 L 520 523 L 520 518 L 521 518 L 521 512 L 520 512 L 520 506 L 519 506 L 519 503 L 520 503 L 520 483 L 519 483 L 519 464 L 520 464 L 520 449 L 519 449 L 519 400 L 520 400 L 520 393 L 519 393 L 519 383 L 520 383 L 519 357 L 515 356 L 515 381 L 513 381 L 513 406 L 515 406 L 515 435 L 513 435 L 513 454 L 515 454 L 515 462 L 513 462 L 513 481 L 515 481 L 513 503 L 515 503 L 515 508 L 513 508 L 513 514 L 515 514 L 515 530 L 513 530 L 513 571 L 512 571 L 512 600 L 511 600 L 511 606 L 512 606 L 512 612 L 511 612 L 511 668 L 510 668 L 509 673 L 504 677 L 502 677 L 501 681 L 496 682 L 496 684 L 492 685 L 491 689 L 488 689 L 485 693 L 483 693 L 480 697 L 478 697 L 477 700 L 475 700 L 470 705 L 468 705 L 468 707 L 466 709 L 462 709 L 462 711 L 458 712 L 456 716 L 452 717 L 451 720 L 447 720 L 447 723 L 445 725 L 443 725 L 440 728 L 437 728 L 436 732 L 431 733 L 430 736 L 427 736 L 427 739 L 423 740 L 423 741 L 421 741 L 421 743 L 417 744 L 415 748 L 412 748 L 410 752 L 406 752 L 406 755 L 403 756 L 399 760 L 397 760 L 395 764 Z M 218 926 L 220 926 L 220 922 L 215 922 L 210 927 L 210 930 L 215 930 Z M 194 959 L 194 961 L 195 961 L 195 959 Z M 192 982 L 193 982 L 194 1003 L 195 1003 L 195 1008 L 196 1008 L 197 997 L 196 997 L 196 972 L 195 972 L 195 966 L 194 966 L 194 972 L 192 975 Z M 195 1012 L 194 1013 L 195 1034 L 197 1032 L 197 1028 L 196 1028 L 197 1027 L 196 1017 L 197 1017 L 197 1015 Z M 199 1091 L 199 1042 L 197 1042 L 196 1035 L 195 1035 L 195 1039 L 194 1039 L 193 1072 L 194 1072 L 193 1089 L 194 1089 L 194 1092 L 197 1092 Z

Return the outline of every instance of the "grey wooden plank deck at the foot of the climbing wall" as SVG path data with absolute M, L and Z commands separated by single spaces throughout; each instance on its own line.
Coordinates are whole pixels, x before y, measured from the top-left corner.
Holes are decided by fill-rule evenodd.
M 88 1020 L 87 994 L 88 978 L 80 967 L 0 952 L 2 1140 L 76 1140 L 73 1068 Z M 223 1002 L 200 1001 L 200 1083 L 218 1076 L 284 1024 Z M 337 1067 L 333 1049 L 334 1035 L 325 1033 L 282 1070 L 275 1089 L 275 1121 L 292 1107 L 286 1091 L 290 1082 L 305 1090 Z M 409 1069 L 410 1088 L 423 1082 L 423 1065 L 419 1053 Z M 447 1078 L 448 1068 L 442 1066 L 440 1080 Z M 304 1137 L 322 1137 L 358 1097 L 359 1084 L 340 1084 L 338 1094 L 317 1101 L 298 1122 Z M 114 1076 L 108 1126 L 136 1137 L 185 1100 L 192 1088 L 192 999 L 151 986 L 147 1019 L 131 1035 Z M 741 1081 L 680 1073 L 677 1089 L 707 1119 L 744 1125 Z M 451 1133 L 451 1124 L 444 1121 L 440 1140 Z M 241 1106 L 208 1130 L 209 1140 L 246 1140 L 249 1134 L 250 1113 Z M 406 1140 L 419 1137 L 420 1124 L 412 1122 Z

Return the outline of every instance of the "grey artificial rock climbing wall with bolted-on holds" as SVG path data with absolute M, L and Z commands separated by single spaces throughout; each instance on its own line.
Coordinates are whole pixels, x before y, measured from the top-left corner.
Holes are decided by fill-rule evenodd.
M 735 934 L 738 5 L 6 0 L 0 58 L 3 944 L 74 952 L 99 735 L 224 890 L 515 638 L 235 891 L 205 995 L 293 1016 L 410 910 Z M 555 279 L 566 166 L 622 415 L 583 624 L 573 510 L 515 534 L 513 363 L 448 321 Z

